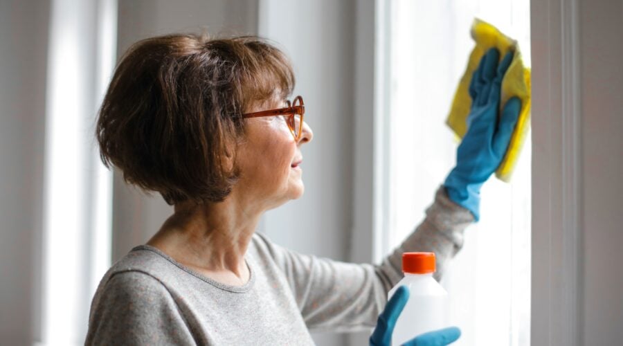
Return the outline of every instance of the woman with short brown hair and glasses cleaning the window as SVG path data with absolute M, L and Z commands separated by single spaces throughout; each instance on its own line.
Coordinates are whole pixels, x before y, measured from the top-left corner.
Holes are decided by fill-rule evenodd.
M 303 194 L 301 148 L 314 138 L 303 98 L 286 101 L 294 74 L 282 52 L 256 37 L 169 35 L 132 46 L 100 109 L 101 156 L 128 183 L 159 192 L 174 214 L 102 278 L 86 343 L 309 345 L 308 329 L 374 327 L 402 277 L 401 253 L 434 251 L 439 276 L 478 215 L 479 184 L 505 147 L 492 155 L 496 131 L 471 129 L 497 114 L 509 61 L 496 72 L 497 52 L 483 59 L 469 150 L 461 145 L 424 222 L 372 266 L 300 255 L 255 233 L 263 212 Z M 506 113 L 518 113 L 511 106 Z M 476 160 L 480 153 L 486 160 Z M 388 344 L 405 301 L 401 291 L 388 304 L 370 343 Z M 455 329 L 439 331 L 419 345 L 431 336 L 458 338 Z

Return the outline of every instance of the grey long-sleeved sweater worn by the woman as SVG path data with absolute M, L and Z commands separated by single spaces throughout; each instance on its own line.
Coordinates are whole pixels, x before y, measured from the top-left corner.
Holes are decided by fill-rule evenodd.
M 244 286 L 221 284 L 137 246 L 102 278 L 85 344 L 313 345 L 309 329 L 374 327 L 403 276 L 401 254 L 435 252 L 438 278 L 471 221 L 440 188 L 422 224 L 377 266 L 301 255 L 255 234 Z

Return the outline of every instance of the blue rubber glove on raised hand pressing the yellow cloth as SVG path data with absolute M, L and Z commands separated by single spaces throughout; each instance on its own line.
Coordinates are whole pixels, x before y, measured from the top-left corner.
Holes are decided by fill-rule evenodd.
M 450 199 L 471 211 L 476 221 L 480 188 L 502 162 L 521 110 L 521 100 L 511 98 L 498 116 L 500 85 L 513 54 L 507 53 L 498 66 L 499 59 L 498 50 L 491 48 L 471 77 L 467 133 L 457 149 L 456 166 L 444 182 Z

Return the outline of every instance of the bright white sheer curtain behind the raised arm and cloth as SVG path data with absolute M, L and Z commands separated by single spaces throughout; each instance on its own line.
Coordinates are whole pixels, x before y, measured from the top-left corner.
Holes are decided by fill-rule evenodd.
M 399 0 L 388 9 L 392 248 L 422 221 L 455 163 L 457 142 L 444 122 L 473 48 L 473 18 L 518 39 L 529 65 L 530 2 Z M 442 280 L 452 322 L 463 331 L 457 345 L 530 343 L 530 145 L 528 139 L 511 183 L 485 184 L 481 220 L 466 230 L 464 248 Z

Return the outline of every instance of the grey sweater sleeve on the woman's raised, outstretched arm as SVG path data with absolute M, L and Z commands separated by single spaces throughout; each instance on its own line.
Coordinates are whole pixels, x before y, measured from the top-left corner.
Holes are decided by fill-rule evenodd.
M 288 251 L 264 239 L 312 330 L 357 331 L 374 327 L 385 307 L 388 291 L 403 277 L 401 256 L 406 251 L 432 251 L 437 257 L 437 280 L 463 244 L 471 212 L 437 190 L 426 218 L 380 265 L 338 262 Z M 263 238 L 262 238 L 263 239 Z

